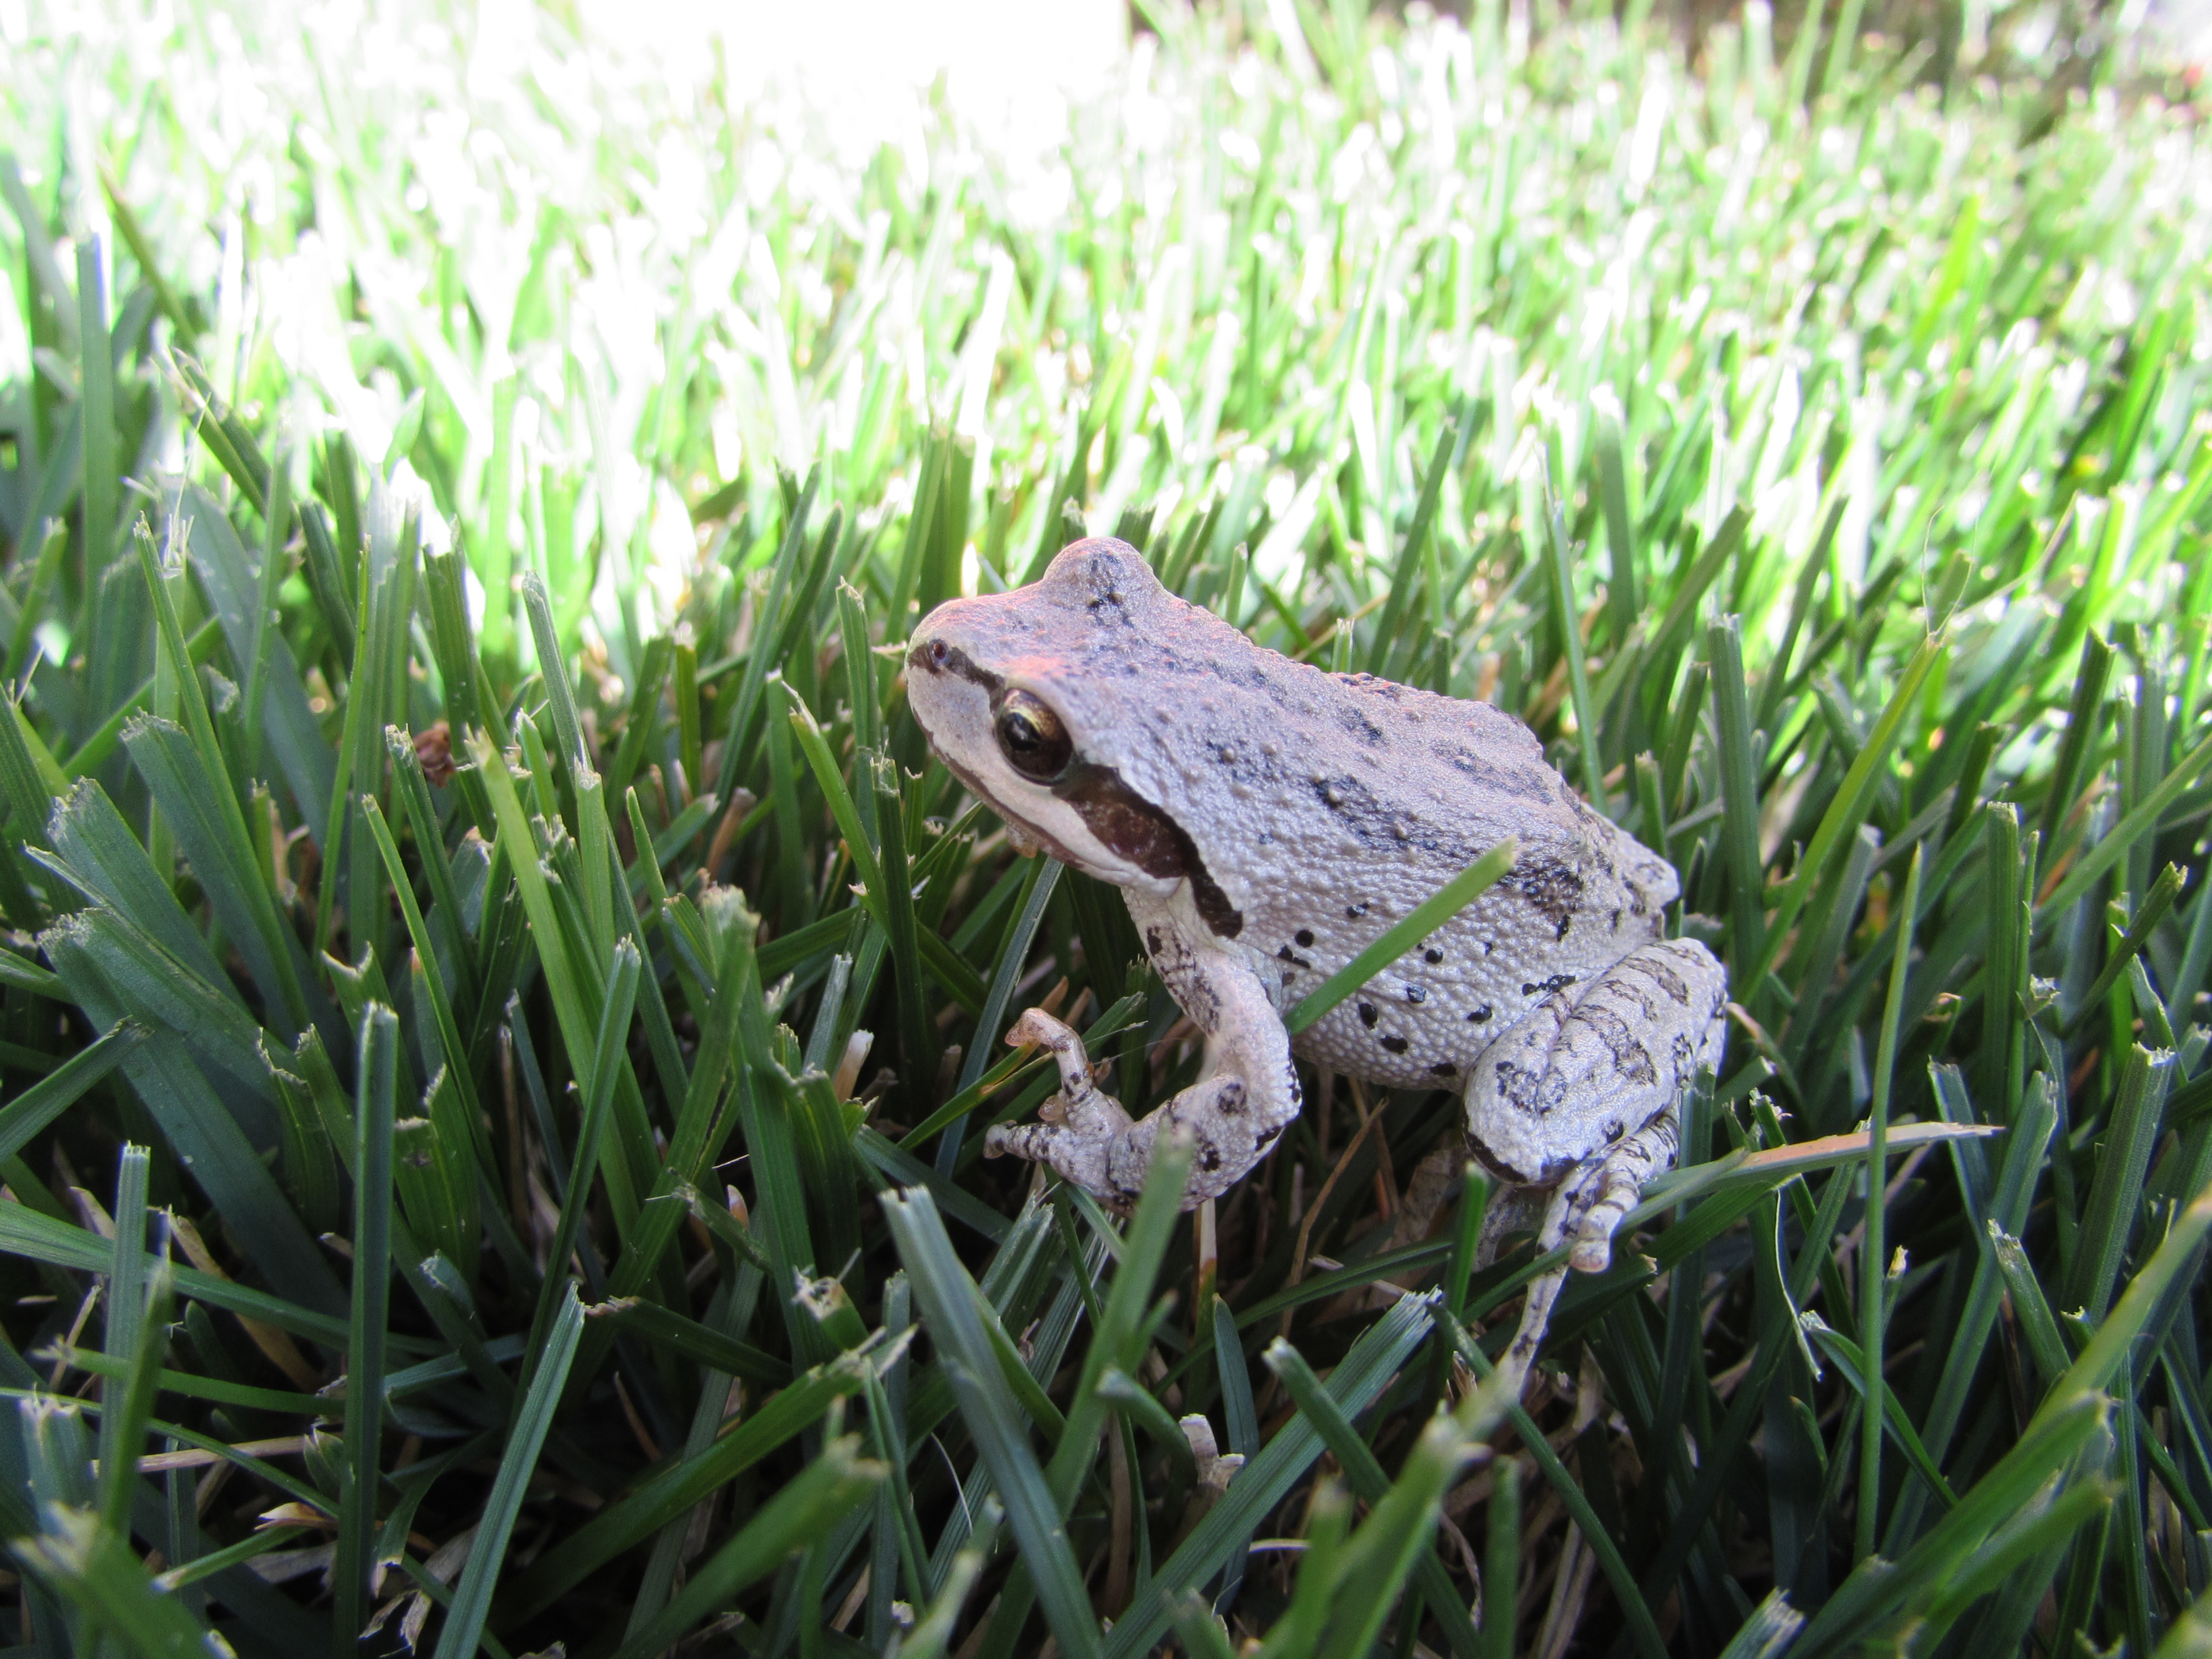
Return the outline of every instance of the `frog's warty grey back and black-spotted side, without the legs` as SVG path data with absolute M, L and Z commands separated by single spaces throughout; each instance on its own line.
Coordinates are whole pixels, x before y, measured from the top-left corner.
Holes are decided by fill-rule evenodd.
M 1068 549 L 1026 595 L 1035 608 L 1009 617 L 1040 646 L 1024 672 L 1188 836 L 1206 925 L 1279 1006 L 1520 838 L 1504 880 L 1305 1031 L 1318 1064 L 1436 1086 L 1537 998 L 1659 936 L 1674 872 L 1513 714 L 1254 646 L 1119 542 Z

